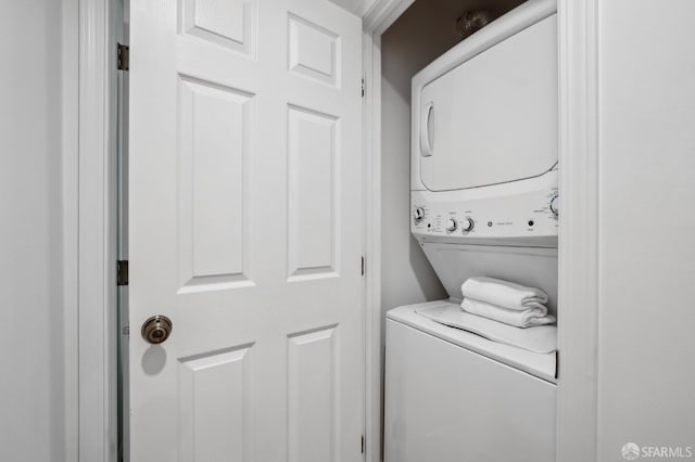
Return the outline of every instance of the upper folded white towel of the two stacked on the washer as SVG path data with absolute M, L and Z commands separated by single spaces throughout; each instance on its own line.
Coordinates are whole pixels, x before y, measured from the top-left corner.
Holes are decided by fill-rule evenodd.
M 476 277 L 468 278 L 460 286 L 464 298 L 475 298 L 502 308 L 526 310 L 545 309 L 547 294 L 540 288 L 527 287 L 501 279 Z

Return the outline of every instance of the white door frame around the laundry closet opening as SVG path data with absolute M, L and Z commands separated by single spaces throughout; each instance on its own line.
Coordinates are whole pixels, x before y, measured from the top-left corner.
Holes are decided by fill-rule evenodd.
M 364 18 L 367 461 L 381 460 L 381 34 L 415 0 L 379 0 Z M 598 0 L 558 0 L 559 316 L 557 460 L 597 455 Z

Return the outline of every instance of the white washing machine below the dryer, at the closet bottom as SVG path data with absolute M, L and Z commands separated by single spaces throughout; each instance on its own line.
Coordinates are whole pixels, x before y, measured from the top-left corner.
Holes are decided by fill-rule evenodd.
M 418 315 L 387 319 L 388 462 L 555 461 L 555 354 L 490 342 Z

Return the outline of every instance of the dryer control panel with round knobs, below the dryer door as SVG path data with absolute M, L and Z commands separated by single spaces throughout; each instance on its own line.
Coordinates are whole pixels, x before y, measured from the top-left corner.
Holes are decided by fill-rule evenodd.
M 556 187 L 460 201 L 430 191 L 410 194 L 410 230 L 419 241 L 557 245 Z

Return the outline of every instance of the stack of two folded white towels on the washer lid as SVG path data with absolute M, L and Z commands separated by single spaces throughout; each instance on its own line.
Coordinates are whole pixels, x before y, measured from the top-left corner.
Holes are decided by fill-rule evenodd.
M 501 279 L 469 278 L 460 286 L 464 311 L 517 328 L 552 324 L 555 317 L 547 313 L 547 294 Z

